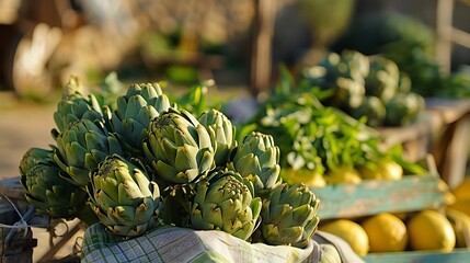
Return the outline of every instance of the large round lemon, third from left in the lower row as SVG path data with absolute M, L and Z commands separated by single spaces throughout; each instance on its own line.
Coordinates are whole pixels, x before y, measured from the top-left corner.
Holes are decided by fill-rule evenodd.
M 456 235 L 447 218 L 435 210 L 422 210 L 406 224 L 412 250 L 452 251 Z

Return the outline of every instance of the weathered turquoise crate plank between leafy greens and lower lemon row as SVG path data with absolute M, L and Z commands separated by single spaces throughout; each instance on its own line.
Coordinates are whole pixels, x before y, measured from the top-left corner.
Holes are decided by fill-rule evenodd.
M 438 176 L 426 174 L 406 175 L 399 181 L 364 180 L 360 184 L 332 184 L 311 190 L 321 202 L 320 218 L 332 219 L 439 207 L 445 193 L 438 183 Z

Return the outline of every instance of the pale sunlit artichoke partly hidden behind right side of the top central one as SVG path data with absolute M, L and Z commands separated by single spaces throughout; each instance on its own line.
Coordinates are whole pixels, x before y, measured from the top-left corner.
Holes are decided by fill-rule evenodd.
M 213 138 L 215 149 L 215 161 L 217 167 L 225 167 L 230 150 L 236 146 L 236 127 L 223 113 L 210 108 L 203 112 L 198 118 Z

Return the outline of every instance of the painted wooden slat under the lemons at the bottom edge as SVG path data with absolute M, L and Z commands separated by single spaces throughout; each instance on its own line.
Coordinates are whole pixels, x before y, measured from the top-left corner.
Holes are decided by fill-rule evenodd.
M 369 253 L 363 259 L 367 263 L 468 263 L 470 250 L 455 249 L 451 253 L 425 251 Z

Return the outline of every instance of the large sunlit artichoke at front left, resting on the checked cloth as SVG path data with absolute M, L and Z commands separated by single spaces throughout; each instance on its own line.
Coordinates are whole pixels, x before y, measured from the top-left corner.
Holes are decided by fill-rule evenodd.
M 130 238 L 161 225 L 160 190 L 142 168 L 112 155 L 91 178 L 92 209 L 110 232 Z

